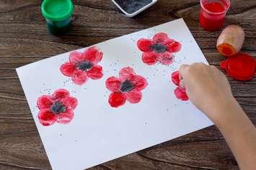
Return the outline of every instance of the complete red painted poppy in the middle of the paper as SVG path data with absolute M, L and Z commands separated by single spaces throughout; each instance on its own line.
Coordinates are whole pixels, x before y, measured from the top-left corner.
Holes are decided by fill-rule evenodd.
M 119 72 L 119 77 L 109 77 L 106 80 L 106 88 L 112 93 L 108 103 L 113 108 L 124 105 L 128 100 L 130 103 L 139 103 L 142 98 L 141 90 L 144 90 L 148 82 L 141 75 L 136 75 L 131 67 L 124 67 Z

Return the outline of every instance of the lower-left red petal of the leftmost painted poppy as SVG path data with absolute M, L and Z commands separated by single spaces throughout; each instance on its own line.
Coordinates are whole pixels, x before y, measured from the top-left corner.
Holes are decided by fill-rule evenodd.
M 49 109 L 40 110 L 38 113 L 38 119 L 43 126 L 53 125 L 53 123 L 57 121 L 56 115 L 51 113 Z

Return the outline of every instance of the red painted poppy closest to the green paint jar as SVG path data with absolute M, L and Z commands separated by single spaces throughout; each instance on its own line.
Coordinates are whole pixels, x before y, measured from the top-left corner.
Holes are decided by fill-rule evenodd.
M 63 75 L 71 77 L 76 85 L 83 85 L 88 77 L 92 80 L 103 76 L 102 67 L 97 65 L 102 60 L 103 53 L 96 47 L 90 47 L 84 52 L 71 52 L 69 62 L 61 65 Z

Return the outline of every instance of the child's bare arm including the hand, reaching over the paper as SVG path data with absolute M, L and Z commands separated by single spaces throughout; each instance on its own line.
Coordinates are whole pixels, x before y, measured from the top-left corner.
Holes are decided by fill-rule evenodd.
M 225 75 L 195 63 L 182 65 L 180 76 L 190 101 L 219 128 L 240 169 L 256 169 L 256 128 L 234 99 Z

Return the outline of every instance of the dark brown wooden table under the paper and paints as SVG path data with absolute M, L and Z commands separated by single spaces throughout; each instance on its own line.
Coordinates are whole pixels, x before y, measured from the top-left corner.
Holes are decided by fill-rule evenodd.
M 73 30 L 62 37 L 48 34 L 40 3 L 0 0 L 0 169 L 50 169 L 16 67 L 180 17 L 187 22 L 211 65 L 219 67 L 224 60 L 215 48 L 220 32 L 206 32 L 198 27 L 198 0 L 159 0 L 133 19 L 120 14 L 110 0 L 76 0 Z M 256 0 L 231 1 L 227 24 L 244 28 L 246 41 L 242 50 L 256 57 Z M 235 98 L 256 124 L 256 78 L 250 82 L 229 78 L 229 82 Z M 92 169 L 238 169 L 238 166 L 223 136 L 211 126 Z

